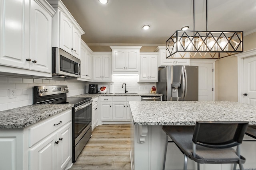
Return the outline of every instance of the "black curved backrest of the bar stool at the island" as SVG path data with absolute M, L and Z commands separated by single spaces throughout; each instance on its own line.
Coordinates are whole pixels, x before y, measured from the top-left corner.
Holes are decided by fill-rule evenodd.
M 196 121 L 192 141 L 210 148 L 230 148 L 242 143 L 247 121 Z

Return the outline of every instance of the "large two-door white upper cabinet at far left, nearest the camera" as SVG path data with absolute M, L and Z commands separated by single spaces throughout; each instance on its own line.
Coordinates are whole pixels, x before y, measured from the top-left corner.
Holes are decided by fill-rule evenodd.
M 0 71 L 50 77 L 56 11 L 45 0 L 1 2 Z

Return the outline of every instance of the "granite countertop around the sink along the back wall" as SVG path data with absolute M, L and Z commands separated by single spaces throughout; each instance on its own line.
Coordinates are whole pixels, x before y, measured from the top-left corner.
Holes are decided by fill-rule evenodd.
M 106 94 L 79 94 L 76 96 L 72 96 L 72 97 L 77 97 L 77 98 L 96 98 L 99 96 L 163 96 L 162 94 L 159 93 L 138 93 L 138 94 L 115 94 L 115 93 L 106 93 Z

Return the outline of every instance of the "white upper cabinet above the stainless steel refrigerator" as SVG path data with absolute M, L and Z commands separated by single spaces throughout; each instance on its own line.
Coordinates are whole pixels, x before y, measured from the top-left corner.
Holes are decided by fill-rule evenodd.
M 190 59 L 175 59 L 169 58 L 166 59 L 166 47 L 159 46 L 156 51 L 159 52 L 159 66 L 167 66 L 167 65 L 189 65 Z M 189 57 L 189 55 L 185 56 Z

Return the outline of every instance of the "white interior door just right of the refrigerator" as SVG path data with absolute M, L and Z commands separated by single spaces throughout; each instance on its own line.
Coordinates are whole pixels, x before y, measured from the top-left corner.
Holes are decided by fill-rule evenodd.
M 190 63 L 198 66 L 198 101 L 213 100 L 213 64 L 212 63 Z

